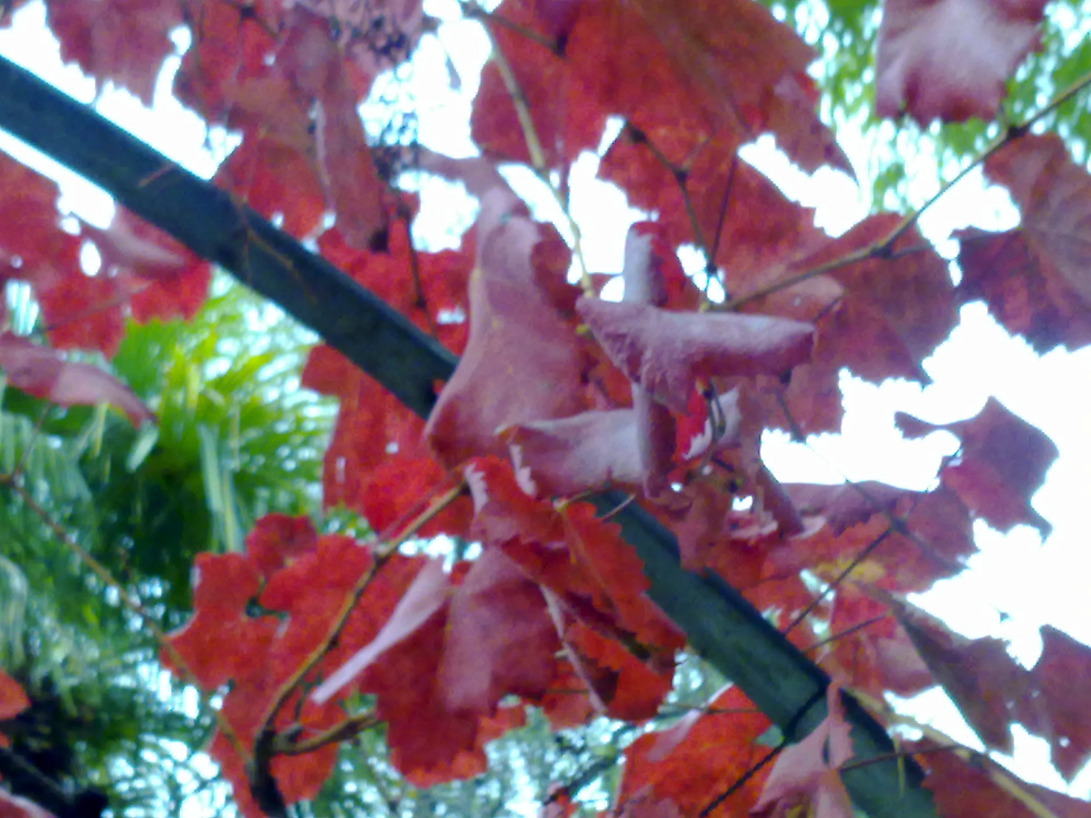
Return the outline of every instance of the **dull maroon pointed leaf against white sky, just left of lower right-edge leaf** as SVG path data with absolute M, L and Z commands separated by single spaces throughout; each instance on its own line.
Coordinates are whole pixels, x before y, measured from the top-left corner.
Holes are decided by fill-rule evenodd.
M 967 639 L 897 598 L 886 600 L 916 652 L 967 723 L 990 749 L 1010 754 L 1016 702 L 1027 694 L 1026 670 L 992 637 Z

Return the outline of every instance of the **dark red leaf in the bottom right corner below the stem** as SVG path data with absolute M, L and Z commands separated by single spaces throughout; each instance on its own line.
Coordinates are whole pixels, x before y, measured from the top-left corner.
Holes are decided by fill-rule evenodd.
M 935 797 L 939 818 L 963 818 L 968 815 L 1032 818 L 1042 815 L 1012 792 L 1015 787 L 1002 786 L 990 772 L 1015 784 L 1020 793 L 1044 806 L 1055 818 L 1091 818 L 1091 804 L 1088 802 L 1018 781 L 984 756 L 974 755 L 967 760 L 954 748 L 940 749 L 940 745 L 927 738 L 907 742 L 906 749 L 918 753 L 918 763 L 927 771 L 924 785 Z

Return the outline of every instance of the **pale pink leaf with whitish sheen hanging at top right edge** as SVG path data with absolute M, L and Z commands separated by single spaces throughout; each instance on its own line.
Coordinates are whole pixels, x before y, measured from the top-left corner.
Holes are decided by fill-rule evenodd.
M 885 0 L 875 52 L 875 110 L 992 119 L 1004 84 L 1036 50 L 1045 0 Z

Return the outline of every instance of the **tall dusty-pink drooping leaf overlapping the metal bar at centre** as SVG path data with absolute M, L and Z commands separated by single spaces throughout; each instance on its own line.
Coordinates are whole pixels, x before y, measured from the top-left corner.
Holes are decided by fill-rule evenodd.
M 505 426 L 586 408 L 575 329 L 531 263 L 548 233 L 524 214 L 508 190 L 493 188 L 481 200 L 469 340 L 424 428 L 447 468 L 505 454 L 496 434 Z

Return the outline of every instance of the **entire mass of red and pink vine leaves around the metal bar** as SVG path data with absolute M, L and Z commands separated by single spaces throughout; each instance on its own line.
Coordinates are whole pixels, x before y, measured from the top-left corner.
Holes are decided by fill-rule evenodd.
M 1004 82 L 1036 46 L 1043 4 L 886 0 L 879 113 L 925 123 L 993 116 Z M 211 751 L 245 813 L 259 810 L 245 768 L 259 731 L 313 742 L 272 762 L 285 799 L 312 797 L 336 753 L 320 739 L 359 717 L 361 693 L 375 696 L 392 758 L 420 785 L 483 769 L 483 743 L 520 722 L 521 705 L 501 706 L 509 695 L 556 726 L 654 715 L 684 637 L 646 597 L 643 566 L 616 527 L 574 500 L 608 485 L 631 490 L 678 534 L 686 568 L 719 573 L 771 612 L 839 685 L 882 696 L 939 684 L 990 748 L 1009 749 L 1018 721 L 1051 742 L 1066 777 L 1087 761 L 1091 723 L 1068 681 L 1091 671 L 1091 650 L 1046 629 L 1028 671 L 998 640 L 962 639 L 903 599 L 962 569 L 973 517 L 1047 530 L 1030 505 L 1056 457 L 1045 435 L 990 401 L 943 426 L 962 445 L 931 492 L 781 485 L 759 447 L 767 428 L 837 431 L 842 368 L 873 382 L 924 382 L 923 359 L 971 299 L 1040 351 L 1091 341 L 1091 178 L 1058 139 L 1019 136 L 988 159 L 986 175 L 1010 191 L 1023 224 L 960 233 L 954 287 L 898 216 L 872 216 L 831 240 L 739 159 L 741 145 L 769 133 L 806 170 L 851 172 L 815 113 L 812 50 L 764 7 L 506 0 L 477 12 L 496 49 L 471 117 L 483 157 L 422 155 L 425 169 L 478 196 L 477 225 L 458 251 L 418 253 L 411 203 L 385 188 L 356 107 L 421 35 L 419 3 L 47 8 L 67 60 L 145 101 L 168 33 L 189 25 L 194 45 L 175 91 L 209 123 L 242 134 L 216 182 L 288 232 L 316 238 L 325 257 L 461 356 L 427 423 L 324 346 L 303 383 L 340 401 L 325 502 L 361 512 L 384 541 L 465 481 L 470 497 L 418 533 L 477 540 L 479 558 L 445 572 L 274 516 L 245 553 L 197 560 L 194 617 L 171 635 L 164 661 L 206 689 L 230 683 L 221 710 L 230 735 L 217 733 Z M 500 161 L 543 178 L 565 171 L 598 145 L 610 117 L 626 124 L 600 175 L 655 214 L 628 236 L 621 303 L 567 284 L 568 248 L 495 171 Z M 207 267 L 182 249 L 123 212 L 109 230 L 74 236 L 59 227 L 56 188 L 10 161 L 0 175 L 4 212 L 20 228 L 0 239 L 0 281 L 31 284 L 55 346 L 109 354 L 127 314 L 199 306 Z M 319 234 L 327 210 L 335 226 Z M 83 241 L 103 258 L 95 276 L 80 268 Z M 687 242 L 721 270 L 726 308 L 700 309 L 675 256 Z M 57 402 L 110 400 L 134 422 L 146 417 L 103 373 L 24 339 L 0 336 L 0 366 L 13 385 Z M 910 436 L 937 428 L 900 425 Z M 736 509 L 741 497 L 748 510 Z M 816 598 L 804 573 L 832 590 Z M 819 642 L 814 624 L 830 638 Z M 4 678 L 0 714 L 15 701 L 4 699 Z M 837 771 L 851 756 L 838 696 L 831 686 L 827 720 L 747 778 L 768 722 L 728 688 L 632 745 L 614 814 L 850 816 Z M 962 756 L 916 749 L 931 759 L 926 782 L 943 815 L 1010 807 L 1010 793 Z M 1033 792 L 1058 815 L 1086 814 Z M 570 807 L 551 804 L 558 814 Z

